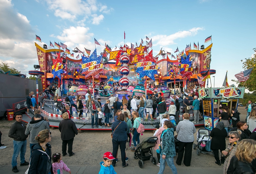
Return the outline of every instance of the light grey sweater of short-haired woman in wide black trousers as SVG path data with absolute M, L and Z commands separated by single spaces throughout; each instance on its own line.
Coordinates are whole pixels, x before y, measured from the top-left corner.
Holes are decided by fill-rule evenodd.
M 195 125 L 191 121 L 184 119 L 180 121 L 176 127 L 177 139 L 181 142 L 193 142 L 194 133 L 196 132 Z

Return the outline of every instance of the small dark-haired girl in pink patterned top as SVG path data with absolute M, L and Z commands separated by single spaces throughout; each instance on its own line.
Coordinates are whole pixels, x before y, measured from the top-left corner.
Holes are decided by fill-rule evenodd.
M 67 165 L 61 160 L 61 154 L 60 153 L 55 153 L 51 157 L 53 164 L 52 164 L 52 171 L 54 174 L 59 173 L 63 174 L 62 170 L 65 170 L 66 172 L 69 172 L 71 174 L 71 170 L 67 167 Z

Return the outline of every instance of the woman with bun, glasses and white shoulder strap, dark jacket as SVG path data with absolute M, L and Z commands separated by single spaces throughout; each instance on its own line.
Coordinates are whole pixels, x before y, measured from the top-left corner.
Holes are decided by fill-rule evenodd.
M 28 174 L 53 174 L 51 165 L 51 134 L 49 130 L 42 130 L 35 137 L 38 144 L 33 145 Z

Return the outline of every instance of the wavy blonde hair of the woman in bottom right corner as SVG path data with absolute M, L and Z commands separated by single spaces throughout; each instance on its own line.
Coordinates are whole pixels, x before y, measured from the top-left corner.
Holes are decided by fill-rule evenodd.
M 256 158 L 256 141 L 253 139 L 243 139 L 236 147 L 236 158 L 242 162 L 251 163 Z

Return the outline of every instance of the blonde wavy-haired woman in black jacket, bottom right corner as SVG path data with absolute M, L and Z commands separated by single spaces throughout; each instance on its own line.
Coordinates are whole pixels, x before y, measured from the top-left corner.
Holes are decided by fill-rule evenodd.
M 235 156 L 230 160 L 227 174 L 255 174 L 255 166 L 251 164 L 256 158 L 256 141 L 244 139 L 238 143 Z

